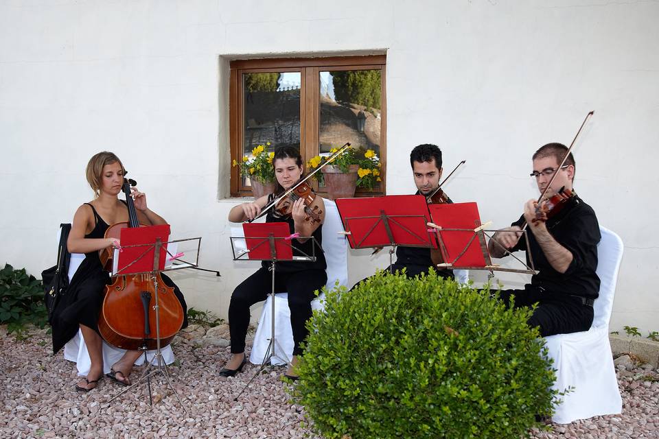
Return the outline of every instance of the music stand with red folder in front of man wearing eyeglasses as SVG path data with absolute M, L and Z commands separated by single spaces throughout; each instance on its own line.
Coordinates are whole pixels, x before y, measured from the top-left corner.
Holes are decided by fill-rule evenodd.
M 429 204 L 432 224 L 439 240 L 439 249 L 445 263 L 438 264 L 439 267 L 463 270 L 494 270 L 506 272 L 518 272 L 533 274 L 535 270 L 520 261 L 526 270 L 514 268 L 501 268 L 492 263 L 487 248 L 485 237 L 487 230 L 481 224 L 481 216 L 478 214 L 478 206 L 475 202 L 453 203 L 453 204 Z M 527 241 L 528 247 L 528 241 Z M 527 249 L 528 251 L 528 249 Z M 530 254 L 530 252 L 529 252 Z M 533 261 L 531 260 L 531 265 Z M 494 274 L 492 274 L 494 276 Z

